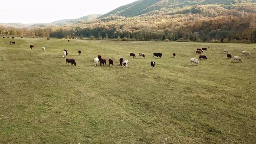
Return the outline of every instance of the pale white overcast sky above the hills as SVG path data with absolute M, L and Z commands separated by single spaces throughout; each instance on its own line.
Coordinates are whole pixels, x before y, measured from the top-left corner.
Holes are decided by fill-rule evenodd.
M 105 14 L 136 0 L 1 0 L 0 23 L 51 23 Z

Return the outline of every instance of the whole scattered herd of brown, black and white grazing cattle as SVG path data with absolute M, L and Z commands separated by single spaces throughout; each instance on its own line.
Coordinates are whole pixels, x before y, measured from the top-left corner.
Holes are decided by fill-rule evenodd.
M 3 36 L 3 38 L 5 38 L 5 37 Z M 7 38 L 9 38 L 9 37 L 7 37 Z M 23 38 L 23 37 L 21 37 L 21 38 Z M 12 39 L 14 39 L 13 36 L 12 36 Z M 50 39 L 47 38 L 47 40 L 50 40 Z M 69 40 L 68 40 L 68 42 L 69 42 Z M 10 44 L 15 44 L 15 42 L 10 41 Z M 34 48 L 34 45 L 30 45 L 30 49 L 33 49 L 33 48 Z M 196 54 L 200 54 L 199 59 L 207 59 L 207 56 L 201 55 L 203 52 L 207 51 L 207 49 L 210 49 L 210 47 L 207 46 L 207 48 L 197 49 Z M 45 52 L 45 50 L 46 50 L 45 47 L 42 47 L 42 51 Z M 256 48 L 254 48 L 254 50 L 256 50 Z M 229 51 L 227 49 L 223 49 L 223 52 L 227 53 L 228 59 L 232 59 L 232 55 L 229 53 Z M 79 50 L 78 54 L 79 54 L 79 56 L 81 56 L 82 51 Z M 242 51 L 242 54 L 243 54 L 243 56 L 250 56 L 250 52 Z M 64 49 L 63 53 L 62 53 L 62 57 L 66 58 L 66 56 L 68 56 L 68 52 L 66 49 Z M 136 58 L 135 53 L 130 53 L 130 56 L 132 56 L 133 58 Z M 153 57 L 162 58 L 162 56 L 163 56 L 162 53 L 153 53 Z M 176 53 L 173 53 L 173 56 L 176 57 Z M 145 54 L 139 53 L 139 57 L 142 57 L 145 59 Z M 233 61 L 236 61 L 236 60 L 238 60 L 238 62 L 243 62 L 243 60 L 239 56 L 234 56 Z M 95 57 L 93 61 L 94 61 L 95 66 L 98 65 L 98 62 L 100 62 L 99 65 L 102 66 L 102 65 L 106 65 L 107 59 L 105 59 L 105 58 L 102 59 L 102 56 L 98 55 L 98 57 Z M 125 61 L 123 58 L 119 59 L 119 63 L 120 63 L 119 65 L 123 66 L 123 68 L 128 67 L 128 62 L 129 61 L 127 59 Z M 72 59 L 72 58 L 66 59 L 66 64 L 68 65 L 68 63 L 71 63 L 71 65 L 76 65 L 75 59 Z M 112 59 L 108 59 L 108 63 L 109 63 L 109 66 L 114 65 L 114 62 Z M 190 58 L 190 64 L 192 65 L 193 63 L 195 63 L 196 65 L 199 65 L 199 60 L 195 59 L 195 58 Z M 151 64 L 151 68 L 154 69 L 155 62 L 151 61 L 150 64 Z

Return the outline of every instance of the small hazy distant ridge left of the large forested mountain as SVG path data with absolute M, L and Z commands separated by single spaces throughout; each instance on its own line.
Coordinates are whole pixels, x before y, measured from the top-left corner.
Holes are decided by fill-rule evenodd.
M 50 24 L 56 24 L 59 26 L 63 26 L 70 23 L 77 23 L 80 20 L 95 20 L 98 16 L 102 16 L 102 14 L 90 14 L 88 16 L 83 16 L 78 19 L 66 19 L 66 20 L 58 20 Z

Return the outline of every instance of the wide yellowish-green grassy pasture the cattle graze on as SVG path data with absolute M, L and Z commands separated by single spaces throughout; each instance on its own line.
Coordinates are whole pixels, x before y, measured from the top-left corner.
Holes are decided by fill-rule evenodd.
M 0 38 L 1 144 L 256 143 L 256 44 L 14 40 Z M 222 49 L 251 56 L 232 62 Z M 114 66 L 95 67 L 98 54 Z

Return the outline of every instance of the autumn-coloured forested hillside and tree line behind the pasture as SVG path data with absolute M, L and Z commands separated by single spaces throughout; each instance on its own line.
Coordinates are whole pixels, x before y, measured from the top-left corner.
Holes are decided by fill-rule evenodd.
M 256 43 L 256 0 L 138 0 L 97 20 L 32 29 L 0 27 L 0 34 Z

